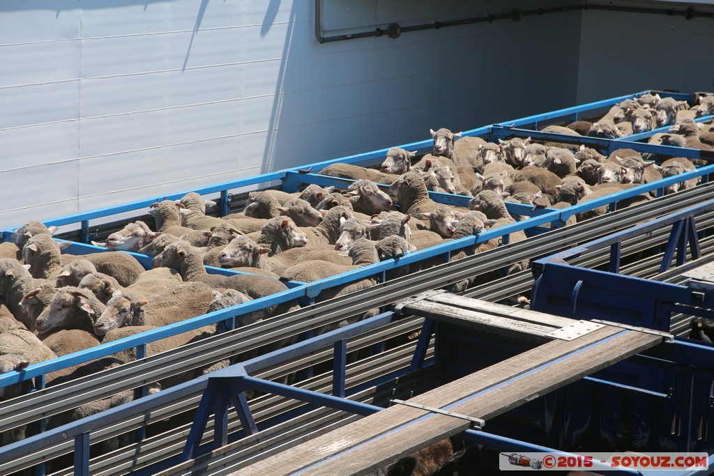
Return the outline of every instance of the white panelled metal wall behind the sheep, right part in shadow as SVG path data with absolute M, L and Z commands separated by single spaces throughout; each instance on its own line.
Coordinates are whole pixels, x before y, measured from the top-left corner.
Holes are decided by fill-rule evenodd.
M 323 0 L 323 29 L 565 4 Z M 613 96 L 590 15 L 319 44 L 311 0 L 1 1 L 0 227 Z

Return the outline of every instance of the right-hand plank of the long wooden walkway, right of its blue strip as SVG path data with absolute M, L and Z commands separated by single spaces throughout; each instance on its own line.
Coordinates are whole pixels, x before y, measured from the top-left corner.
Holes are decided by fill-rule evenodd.
M 483 394 L 455 405 L 449 410 L 488 420 L 641 350 L 653 347 L 662 340 L 663 338 L 657 335 L 627 331 L 623 335 L 618 335 L 580 353 L 569 355 L 533 373 L 521 375 L 496 388 L 490 388 Z M 310 476 L 368 474 L 396 461 L 399 457 L 409 455 L 421 447 L 456 435 L 468 428 L 467 420 L 431 414 L 411 425 L 400 427 L 378 439 L 355 447 L 351 451 L 336 455 L 301 474 Z

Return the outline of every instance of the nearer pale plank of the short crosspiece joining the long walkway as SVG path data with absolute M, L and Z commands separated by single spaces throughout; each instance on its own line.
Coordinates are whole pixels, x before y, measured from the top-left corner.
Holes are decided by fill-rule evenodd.
M 479 313 L 474 310 L 455 308 L 452 305 L 431 303 L 427 300 L 411 303 L 408 305 L 408 312 L 444 323 L 463 325 L 467 328 L 507 335 L 508 337 L 528 340 L 540 338 L 540 342 L 552 339 L 546 336 L 557 329 L 547 325 L 527 323 L 522 320 L 513 320 L 498 315 Z

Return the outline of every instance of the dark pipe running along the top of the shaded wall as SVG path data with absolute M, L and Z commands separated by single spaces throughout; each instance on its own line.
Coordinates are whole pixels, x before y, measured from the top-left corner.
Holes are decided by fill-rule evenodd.
M 608 5 L 578 5 L 578 6 L 561 6 L 553 7 L 549 9 L 535 9 L 522 11 L 520 9 L 513 9 L 508 13 L 491 15 L 485 14 L 483 16 L 475 16 L 471 18 L 450 20 L 450 21 L 433 21 L 428 24 L 413 25 L 413 26 L 399 26 L 399 24 L 390 24 L 387 29 L 376 28 L 371 31 L 361 31 L 358 33 L 336 35 L 336 36 L 322 36 L 320 26 L 322 24 L 322 0 L 315 0 L 315 37 L 320 43 L 327 43 L 330 41 L 342 41 L 351 40 L 356 38 L 367 38 L 368 36 L 383 36 L 386 34 L 390 38 L 398 38 L 405 31 L 418 31 L 418 30 L 428 30 L 428 29 L 440 29 L 446 26 L 458 26 L 458 25 L 468 25 L 474 23 L 493 23 L 496 20 L 513 20 L 519 21 L 524 16 L 540 16 L 544 14 L 562 13 L 565 11 L 574 10 L 605 10 L 605 11 L 620 11 L 625 13 L 639 13 L 639 14 L 662 14 L 668 16 L 684 16 L 685 19 L 693 19 L 695 17 L 703 18 L 714 18 L 714 13 L 706 13 L 703 11 L 695 11 L 693 8 L 688 7 L 687 9 L 651 9 L 636 6 L 608 6 Z

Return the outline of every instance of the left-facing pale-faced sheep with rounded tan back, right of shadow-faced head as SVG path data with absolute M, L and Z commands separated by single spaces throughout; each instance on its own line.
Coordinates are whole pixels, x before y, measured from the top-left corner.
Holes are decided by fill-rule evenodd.
M 161 327 L 195 318 L 205 314 L 215 298 L 205 283 L 183 283 L 148 299 L 117 290 L 94 323 L 94 334 L 105 335 L 125 325 Z

